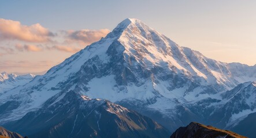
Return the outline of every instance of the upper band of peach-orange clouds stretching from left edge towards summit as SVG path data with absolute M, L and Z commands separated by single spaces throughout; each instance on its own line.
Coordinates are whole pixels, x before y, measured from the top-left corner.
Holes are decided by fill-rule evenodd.
M 82 29 L 53 33 L 40 24 L 27 26 L 19 21 L 0 18 L 0 56 L 49 50 L 75 53 L 105 37 L 109 32 L 109 29 Z

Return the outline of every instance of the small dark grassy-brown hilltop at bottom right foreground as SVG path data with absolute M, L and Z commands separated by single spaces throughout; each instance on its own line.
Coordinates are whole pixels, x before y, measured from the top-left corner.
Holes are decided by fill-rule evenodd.
M 180 127 L 170 138 L 242 138 L 237 133 L 191 122 L 187 127 Z M 245 137 L 244 137 L 245 138 Z

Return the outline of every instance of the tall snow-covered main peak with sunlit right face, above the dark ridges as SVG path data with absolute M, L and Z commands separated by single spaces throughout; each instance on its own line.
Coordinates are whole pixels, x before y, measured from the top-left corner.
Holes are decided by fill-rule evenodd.
M 256 66 L 209 59 L 142 21 L 126 19 L 45 75 L 2 94 L 0 123 L 40 109 L 54 95 L 58 102 L 73 90 L 137 110 L 174 131 L 201 120 L 191 105 L 222 101 L 222 92 L 255 80 Z

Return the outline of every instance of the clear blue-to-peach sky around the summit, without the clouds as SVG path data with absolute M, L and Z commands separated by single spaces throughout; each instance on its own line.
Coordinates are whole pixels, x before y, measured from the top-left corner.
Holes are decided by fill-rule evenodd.
M 254 65 L 255 7 L 256 1 L 242 0 L 1 1 L 0 18 L 19 21 L 28 26 L 39 23 L 51 32 L 71 29 L 112 30 L 125 18 L 138 18 L 177 44 L 202 52 L 207 57 L 222 62 Z M 24 54 L 1 56 L 0 62 L 10 58 L 29 60 L 35 54 L 40 57 L 34 62 L 50 60 L 44 55 L 58 54 L 60 56 L 52 61 L 52 64 L 57 64 L 72 55 L 60 51 L 26 53 L 29 56 Z M 49 67 L 33 71 L 39 72 Z M 18 68 L 11 71 L 16 70 Z

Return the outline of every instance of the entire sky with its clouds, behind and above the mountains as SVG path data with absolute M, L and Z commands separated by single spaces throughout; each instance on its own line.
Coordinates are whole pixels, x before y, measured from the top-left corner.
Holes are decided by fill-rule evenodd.
M 256 1 L 3 1 L 0 72 L 42 72 L 138 18 L 221 62 L 256 64 Z

